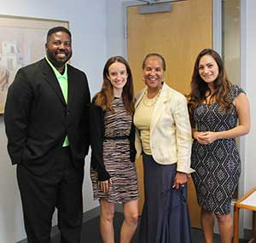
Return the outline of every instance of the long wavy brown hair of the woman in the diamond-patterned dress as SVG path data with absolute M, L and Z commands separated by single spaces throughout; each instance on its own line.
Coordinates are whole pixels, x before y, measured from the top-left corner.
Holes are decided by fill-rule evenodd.
M 204 55 L 211 55 L 218 65 L 218 77 L 215 79 L 213 83 L 213 92 L 209 89 L 207 83 L 201 78 L 199 74 L 199 62 L 201 61 L 201 57 Z M 190 94 L 188 95 L 188 107 L 190 118 L 193 116 L 193 111 L 195 110 L 195 108 L 201 105 L 201 103 L 203 103 L 204 101 L 207 101 L 207 93 L 211 95 L 210 103 L 212 101 L 216 101 L 223 110 L 230 111 L 231 103 L 229 100 L 229 94 L 231 90 L 231 83 L 225 72 L 224 63 L 220 55 L 218 55 L 218 53 L 215 50 L 203 49 L 199 53 L 199 55 L 197 55 L 190 86 L 191 91 Z

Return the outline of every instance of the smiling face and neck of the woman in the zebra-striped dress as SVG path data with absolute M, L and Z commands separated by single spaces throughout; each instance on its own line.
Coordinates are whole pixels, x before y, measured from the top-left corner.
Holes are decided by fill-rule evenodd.
M 113 94 L 120 95 L 127 83 L 127 70 L 125 64 L 115 61 L 108 67 L 108 79 L 113 85 Z

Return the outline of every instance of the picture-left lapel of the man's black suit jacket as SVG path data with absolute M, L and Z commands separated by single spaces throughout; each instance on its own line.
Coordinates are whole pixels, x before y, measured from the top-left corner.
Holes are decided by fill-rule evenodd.
M 49 64 L 47 63 L 46 60 L 44 60 L 43 64 L 44 64 L 43 65 L 43 67 L 44 67 L 43 68 L 43 73 L 44 73 L 45 80 L 49 83 L 51 88 L 53 90 L 55 90 L 56 95 L 60 98 L 63 105 L 66 106 L 66 101 L 65 101 L 64 96 L 62 94 L 61 86 L 60 86 L 57 78 L 55 77 L 55 73 L 53 72 L 52 68 L 49 67 Z

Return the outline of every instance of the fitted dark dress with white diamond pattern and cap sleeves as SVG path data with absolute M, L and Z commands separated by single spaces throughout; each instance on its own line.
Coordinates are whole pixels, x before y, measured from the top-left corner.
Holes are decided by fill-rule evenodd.
M 232 85 L 230 102 L 244 91 Z M 194 123 L 198 131 L 230 130 L 237 125 L 236 107 L 224 112 L 218 103 L 201 104 L 195 108 Z M 241 161 L 236 140 L 218 139 L 211 144 L 193 142 L 191 167 L 199 205 L 217 215 L 230 213 L 230 203 L 241 173 Z

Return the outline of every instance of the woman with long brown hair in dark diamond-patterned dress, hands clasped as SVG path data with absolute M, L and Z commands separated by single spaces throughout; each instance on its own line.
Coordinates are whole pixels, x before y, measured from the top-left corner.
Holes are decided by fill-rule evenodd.
M 212 242 L 217 217 L 221 242 L 230 243 L 230 205 L 241 173 L 235 138 L 250 129 L 249 102 L 238 85 L 230 84 L 223 61 L 213 49 L 203 49 L 195 61 L 189 115 L 194 137 L 192 177 L 205 242 Z

